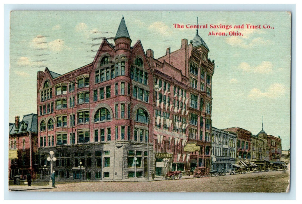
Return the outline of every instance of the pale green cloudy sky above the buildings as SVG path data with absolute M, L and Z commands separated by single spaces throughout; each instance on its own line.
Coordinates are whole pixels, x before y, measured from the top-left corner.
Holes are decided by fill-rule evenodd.
M 9 121 L 37 113 L 37 71 L 48 67 L 64 74 L 93 61 L 103 38 L 113 43 L 124 15 L 132 45 L 141 40 L 155 58 L 167 48 L 193 40 L 196 29 L 173 24 L 208 25 L 199 35 L 215 60 L 212 120 L 219 129 L 242 127 L 257 134 L 280 136 L 290 146 L 291 16 L 287 12 L 79 12 L 14 11 L 10 24 Z M 244 28 L 210 28 L 210 25 Z M 248 29 L 246 24 L 260 25 Z M 270 25 L 271 29 L 264 29 Z M 212 36 L 209 32 L 225 32 Z M 241 36 L 230 36 L 239 31 Z M 22 117 L 21 117 L 22 118 Z

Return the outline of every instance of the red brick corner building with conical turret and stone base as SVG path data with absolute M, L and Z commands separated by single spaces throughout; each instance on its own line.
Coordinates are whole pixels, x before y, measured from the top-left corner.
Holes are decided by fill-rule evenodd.
M 135 169 L 136 176 L 147 175 L 153 77 L 140 41 L 131 47 L 124 17 L 114 42 L 104 39 L 84 67 L 37 73 L 41 171 L 52 150 L 59 179 L 124 179 Z

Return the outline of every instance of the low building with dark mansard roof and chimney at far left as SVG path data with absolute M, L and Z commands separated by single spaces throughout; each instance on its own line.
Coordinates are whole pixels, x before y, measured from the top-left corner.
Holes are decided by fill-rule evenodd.
M 16 116 L 15 123 L 9 123 L 9 179 L 14 179 L 17 175 L 25 179 L 29 171 L 33 178 L 37 177 L 37 136 L 37 114 L 24 115 L 21 121 Z

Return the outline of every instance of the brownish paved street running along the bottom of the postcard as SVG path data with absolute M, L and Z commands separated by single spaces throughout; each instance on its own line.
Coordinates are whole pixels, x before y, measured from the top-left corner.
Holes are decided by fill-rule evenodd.
M 158 178 L 159 179 L 159 178 Z M 31 191 L 107 191 L 107 192 L 286 192 L 288 171 L 247 173 L 153 182 L 82 182 L 56 184 L 53 189 Z

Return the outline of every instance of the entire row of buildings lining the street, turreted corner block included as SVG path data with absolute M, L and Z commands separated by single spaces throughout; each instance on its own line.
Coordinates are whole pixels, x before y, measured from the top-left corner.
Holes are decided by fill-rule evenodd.
M 9 124 L 11 178 L 28 170 L 48 178 L 50 151 L 62 180 L 126 179 L 199 166 L 209 172 L 241 160 L 280 160 L 280 138 L 212 127 L 214 60 L 198 30 L 190 43 L 182 39 L 180 49 L 168 48 L 158 59 L 140 41 L 131 47 L 124 18 L 114 42 L 104 39 L 84 67 L 37 73 L 38 114 Z

